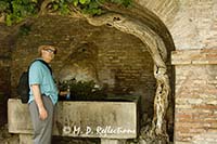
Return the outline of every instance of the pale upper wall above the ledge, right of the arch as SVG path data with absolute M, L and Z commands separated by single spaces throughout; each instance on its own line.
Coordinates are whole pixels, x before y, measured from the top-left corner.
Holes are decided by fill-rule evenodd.
M 216 0 L 136 0 L 166 25 L 176 50 L 215 49 Z

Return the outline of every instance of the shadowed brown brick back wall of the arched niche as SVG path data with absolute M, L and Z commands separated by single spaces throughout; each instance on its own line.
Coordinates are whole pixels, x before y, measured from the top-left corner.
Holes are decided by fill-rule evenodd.
M 153 114 L 156 81 L 145 45 L 131 35 L 106 26 L 94 27 L 79 18 L 40 17 L 31 25 L 28 36 L 17 39 L 13 52 L 14 89 L 18 75 L 37 57 L 37 47 L 47 42 L 59 49 L 52 63 L 56 80 L 76 77 L 106 84 L 110 93 L 139 94 L 142 112 Z

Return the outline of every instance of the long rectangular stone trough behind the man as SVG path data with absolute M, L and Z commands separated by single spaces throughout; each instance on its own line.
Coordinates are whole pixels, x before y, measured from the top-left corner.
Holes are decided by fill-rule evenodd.
M 102 144 L 136 139 L 139 129 L 139 96 L 107 101 L 60 101 L 55 107 L 53 135 L 99 138 Z M 33 126 L 28 105 L 8 101 L 9 132 L 20 134 L 20 144 L 30 144 Z

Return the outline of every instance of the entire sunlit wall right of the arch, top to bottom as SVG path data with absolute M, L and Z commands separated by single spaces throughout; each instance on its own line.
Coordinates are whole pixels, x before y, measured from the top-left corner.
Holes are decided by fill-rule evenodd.
M 171 55 L 176 71 L 175 142 L 216 143 L 216 0 L 138 3 L 167 26 L 176 50 L 186 50 Z

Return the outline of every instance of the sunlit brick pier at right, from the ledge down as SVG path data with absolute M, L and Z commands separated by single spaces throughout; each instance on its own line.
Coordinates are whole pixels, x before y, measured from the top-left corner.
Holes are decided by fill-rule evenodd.
M 217 143 L 217 50 L 173 52 L 176 144 Z

